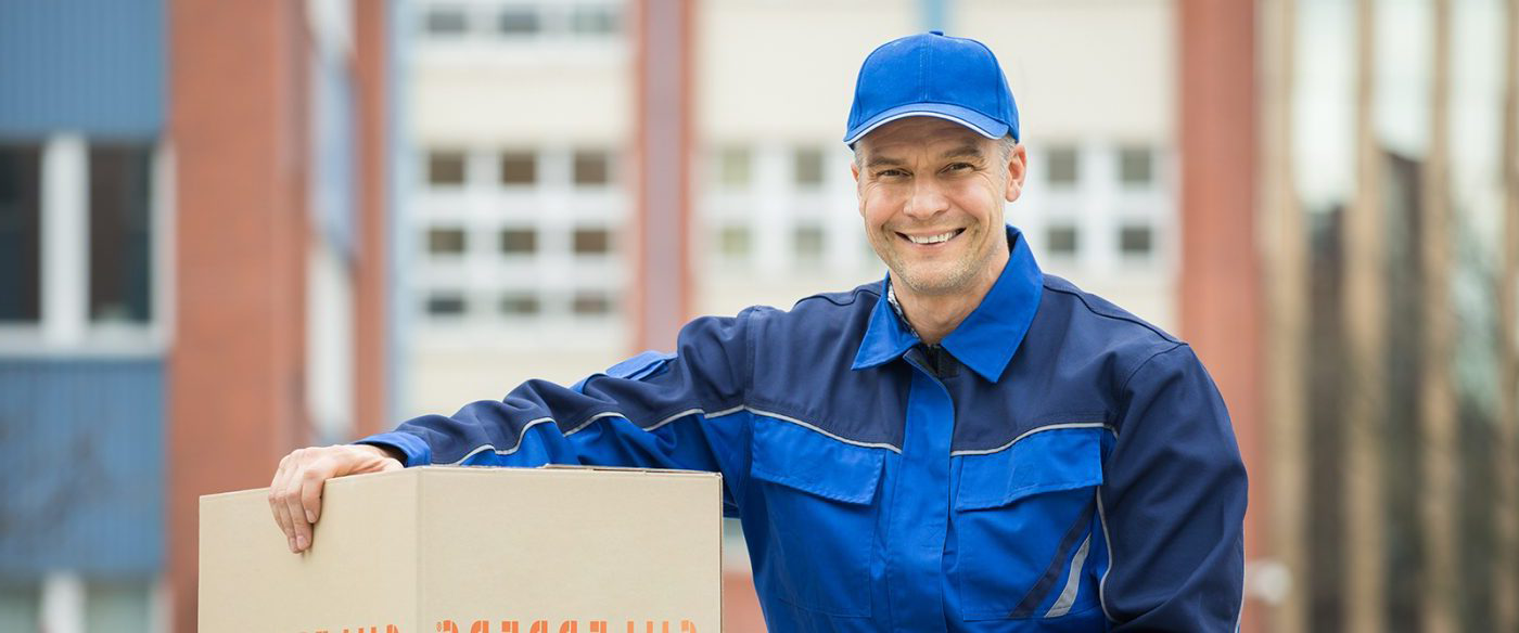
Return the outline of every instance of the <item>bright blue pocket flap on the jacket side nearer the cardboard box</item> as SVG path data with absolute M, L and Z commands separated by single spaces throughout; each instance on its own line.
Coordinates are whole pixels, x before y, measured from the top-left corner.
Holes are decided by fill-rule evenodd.
M 764 414 L 753 419 L 753 478 L 848 504 L 869 504 L 886 449 L 854 446 Z

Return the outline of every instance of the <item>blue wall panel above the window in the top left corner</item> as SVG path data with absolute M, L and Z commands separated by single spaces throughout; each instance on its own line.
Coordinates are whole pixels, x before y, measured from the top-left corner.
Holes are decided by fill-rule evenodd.
M 156 137 L 163 0 L 0 2 L 0 135 Z

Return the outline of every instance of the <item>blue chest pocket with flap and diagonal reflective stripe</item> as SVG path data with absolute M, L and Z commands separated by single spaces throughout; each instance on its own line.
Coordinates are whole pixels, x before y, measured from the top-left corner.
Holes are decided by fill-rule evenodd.
M 966 619 L 1059 618 L 1097 606 L 1106 428 L 1036 431 L 960 457 L 954 577 Z

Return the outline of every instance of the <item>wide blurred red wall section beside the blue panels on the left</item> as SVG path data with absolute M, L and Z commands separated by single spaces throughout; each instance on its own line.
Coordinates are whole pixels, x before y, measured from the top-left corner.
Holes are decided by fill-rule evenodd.
M 305 43 L 298 2 L 169 3 L 175 631 L 196 630 L 197 496 L 266 486 L 307 439 Z

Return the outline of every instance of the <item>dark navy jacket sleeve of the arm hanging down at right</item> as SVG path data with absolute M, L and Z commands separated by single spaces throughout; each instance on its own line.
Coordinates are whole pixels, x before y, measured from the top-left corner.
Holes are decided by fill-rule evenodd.
M 1115 631 L 1233 631 L 1244 595 L 1246 471 L 1229 411 L 1186 345 L 1124 389 L 1098 509 Z

